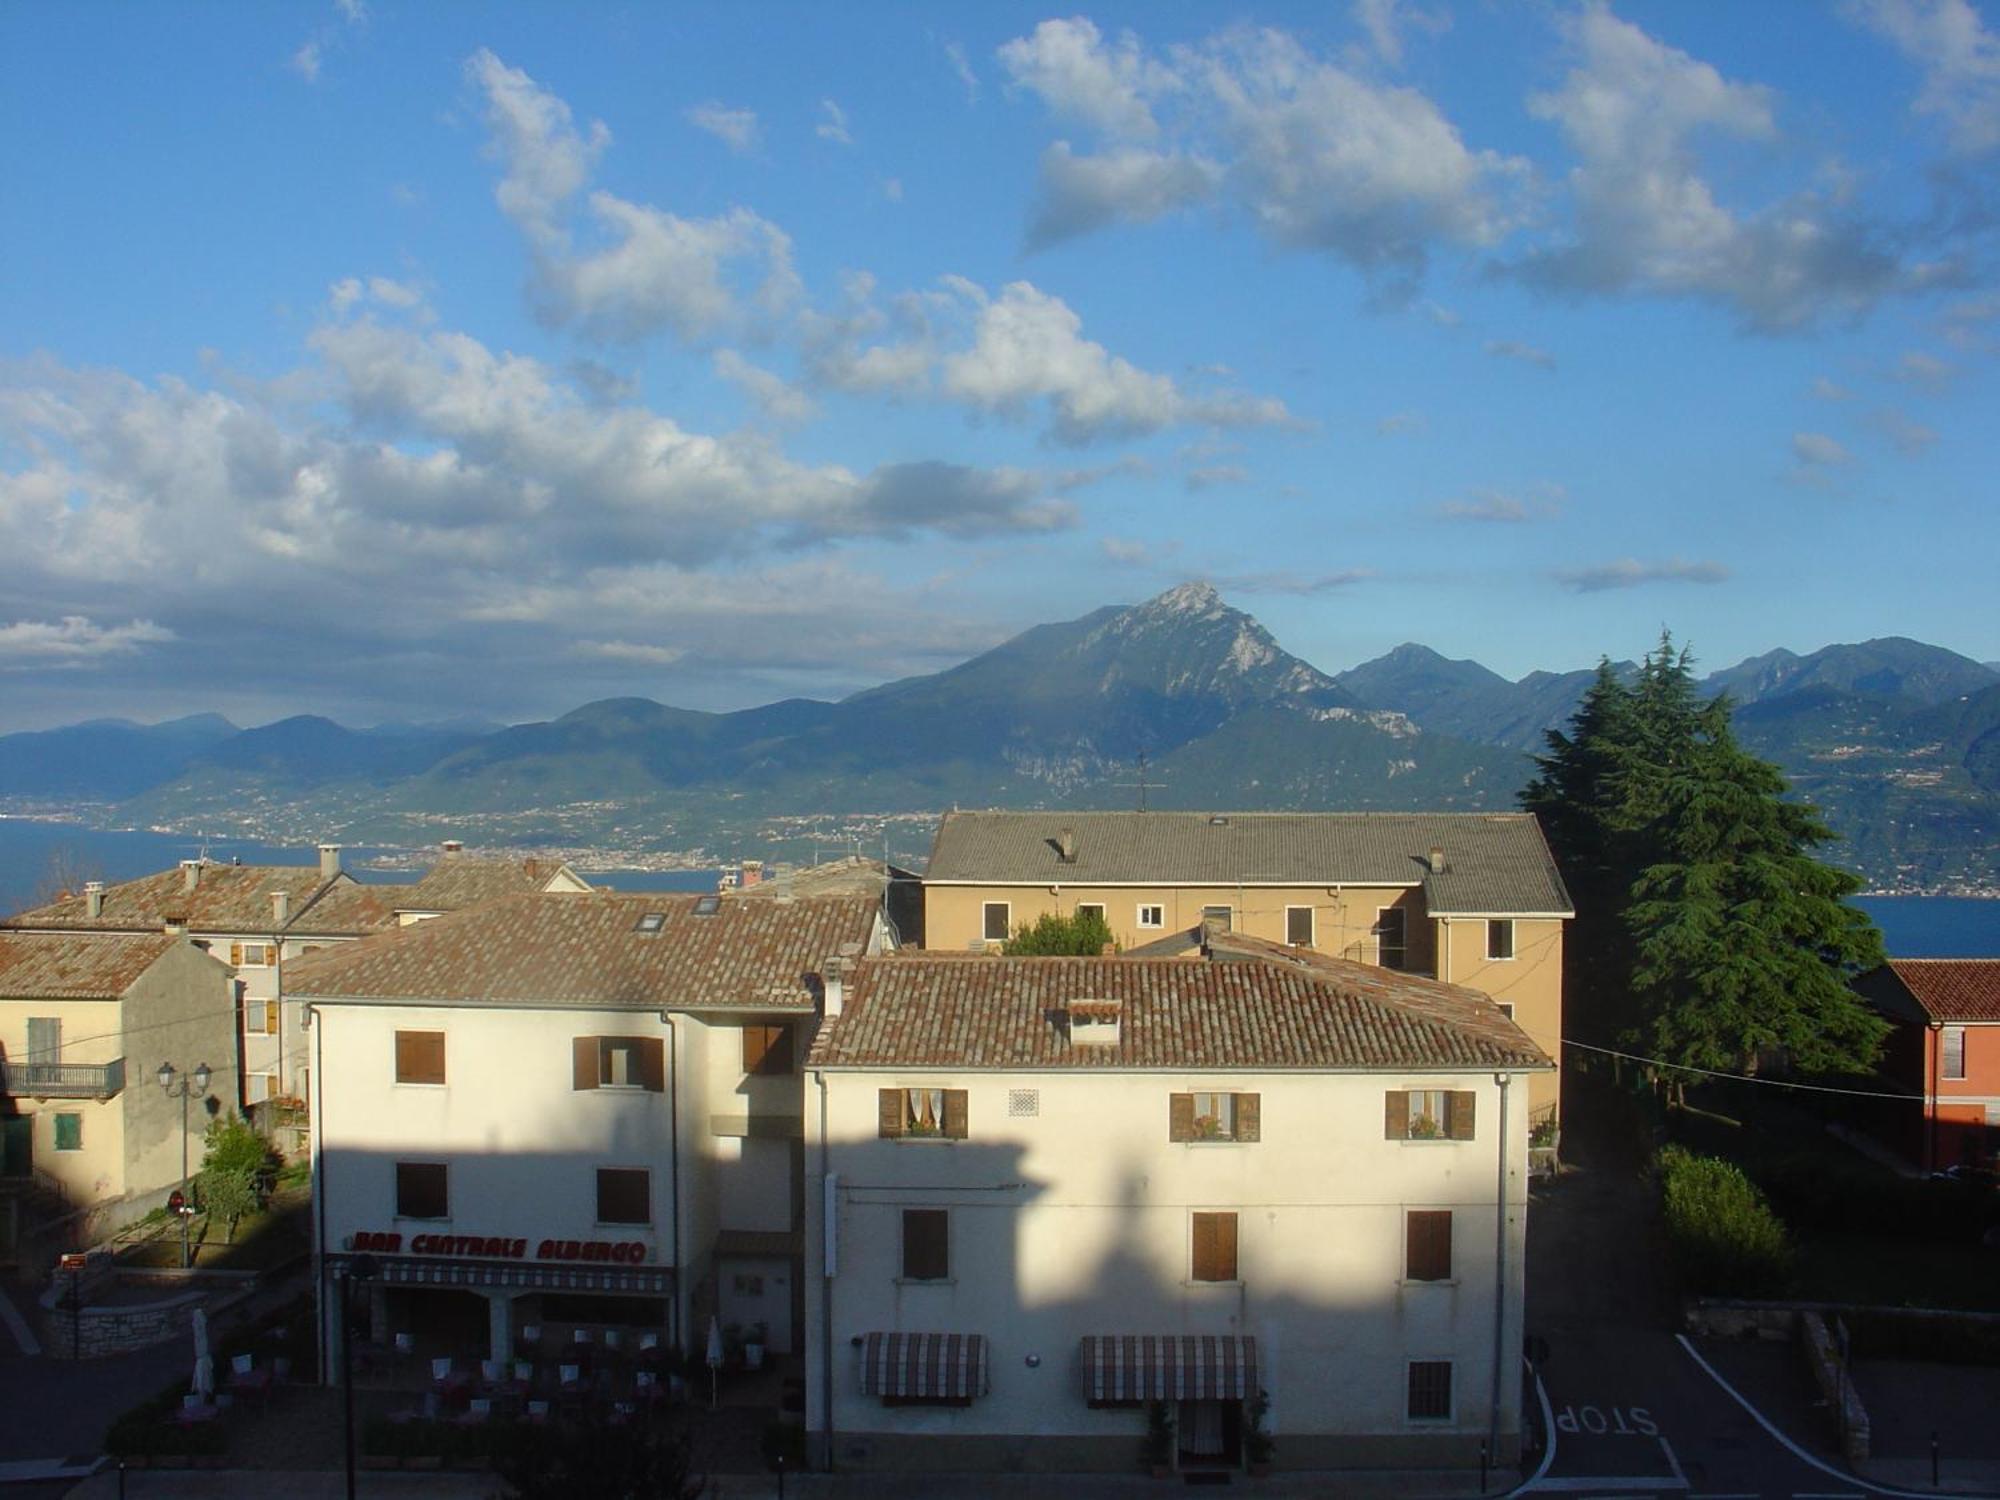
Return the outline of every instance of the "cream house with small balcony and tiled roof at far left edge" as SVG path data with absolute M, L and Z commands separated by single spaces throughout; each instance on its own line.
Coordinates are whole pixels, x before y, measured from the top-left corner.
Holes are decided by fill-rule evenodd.
M 162 1062 L 210 1068 L 188 1116 L 198 1170 L 210 1114 L 236 1098 L 232 988 L 178 936 L 0 934 L 0 1178 L 68 1210 L 178 1186 L 182 1104 Z M 24 1228 L 12 1210 L 8 1228 Z

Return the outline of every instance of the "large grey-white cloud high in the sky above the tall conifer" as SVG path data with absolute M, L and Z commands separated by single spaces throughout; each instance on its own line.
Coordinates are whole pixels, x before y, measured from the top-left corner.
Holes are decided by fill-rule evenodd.
M 1770 90 L 1726 80 L 1598 0 L 1570 34 L 1578 66 L 1528 110 L 1554 120 L 1580 158 L 1568 180 L 1576 224 L 1568 244 L 1518 264 L 1530 282 L 1700 298 L 1760 332 L 1860 312 L 1896 286 L 1896 260 L 1846 216 L 1842 182 L 1754 214 L 1716 198 L 1696 142 L 1776 142 Z

